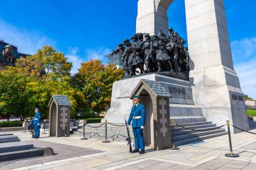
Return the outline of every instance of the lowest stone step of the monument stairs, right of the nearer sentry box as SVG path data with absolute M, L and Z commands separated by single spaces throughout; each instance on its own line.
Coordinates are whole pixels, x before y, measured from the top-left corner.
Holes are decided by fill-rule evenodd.
M 220 132 L 220 133 L 217 133 L 217 134 L 207 134 L 205 136 L 197 136 L 197 137 L 193 137 L 193 138 L 187 138 L 187 139 L 179 140 L 179 141 L 175 142 L 175 145 L 176 146 L 181 146 L 183 144 L 189 144 L 189 143 L 192 143 L 192 142 L 205 140 L 207 138 L 215 138 L 215 137 L 222 136 L 222 135 L 225 135 L 225 134 L 228 134 L 228 132 Z

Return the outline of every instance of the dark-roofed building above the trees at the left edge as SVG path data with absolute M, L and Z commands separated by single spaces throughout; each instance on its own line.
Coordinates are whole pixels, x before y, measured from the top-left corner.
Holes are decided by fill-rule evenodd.
M 7 66 L 14 66 L 19 58 L 26 58 L 29 54 L 18 52 L 18 47 L 0 40 L 0 70 Z

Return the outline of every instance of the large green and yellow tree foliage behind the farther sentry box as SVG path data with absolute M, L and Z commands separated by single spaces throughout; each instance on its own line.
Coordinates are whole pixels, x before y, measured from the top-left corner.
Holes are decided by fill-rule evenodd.
M 0 110 L 3 114 L 34 116 L 39 107 L 42 118 L 49 116 L 51 95 L 68 95 L 73 106 L 71 117 L 89 107 L 81 91 L 70 86 L 72 64 L 64 54 L 44 46 L 27 58 L 20 58 L 15 67 L 0 74 Z M 83 106 L 82 106 L 83 105 Z M 84 108 L 83 108 L 84 109 Z

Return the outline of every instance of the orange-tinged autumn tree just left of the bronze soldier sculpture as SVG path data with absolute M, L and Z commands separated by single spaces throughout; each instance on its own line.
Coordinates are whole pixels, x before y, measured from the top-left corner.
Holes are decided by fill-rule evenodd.
M 73 87 L 83 91 L 94 111 L 109 108 L 112 85 L 125 75 L 123 69 L 117 69 L 115 65 L 104 67 L 100 60 L 91 59 L 82 63 L 78 71 L 72 78 Z

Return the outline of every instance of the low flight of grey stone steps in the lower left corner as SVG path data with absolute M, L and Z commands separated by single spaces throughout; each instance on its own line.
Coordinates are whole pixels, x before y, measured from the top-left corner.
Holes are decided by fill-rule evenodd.
M 20 142 L 18 136 L 0 132 L 0 162 L 44 155 L 44 148 L 34 148 L 33 144 Z

